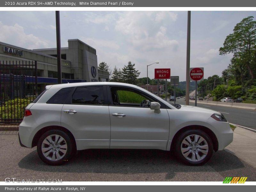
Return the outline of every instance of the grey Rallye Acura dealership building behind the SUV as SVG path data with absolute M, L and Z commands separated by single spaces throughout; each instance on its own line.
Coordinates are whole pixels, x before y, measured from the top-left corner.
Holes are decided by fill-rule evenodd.
M 9 65 L 14 68 L 18 66 L 17 63 L 23 67 L 28 66 L 27 63 L 36 63 L 38 92 L 41 92 L 45 85 L 57 84 L 57 48 L 28 50 L 2 42 L 0 46 L 2 67 Z M 3 70 L 0 70 L 2 74 Z M 61 48 L 61 72 L 62 83 L 109 80 L 109 73 L 98 68 L 96 49 L 79 39 L 69 39 L 68 47 Z M 27 75 L 35 76 L 35 72 Z

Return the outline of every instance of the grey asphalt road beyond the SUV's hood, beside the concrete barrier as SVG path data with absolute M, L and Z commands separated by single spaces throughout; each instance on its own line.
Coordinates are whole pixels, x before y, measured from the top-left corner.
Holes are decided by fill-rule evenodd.
M 171 102 L 173 103 L 173 101 Z M 184 98 L 177 99 L 176 104 L 185 105 L 186 101 Z M 195 102 L 189 102 L 189 105 L 195 106 Z M 203 103 L 197 103 L 197 107 L 219 111 L 225 116 L 229 123 L 247 127 L 256 131 L 255 110 L 207 105 Z

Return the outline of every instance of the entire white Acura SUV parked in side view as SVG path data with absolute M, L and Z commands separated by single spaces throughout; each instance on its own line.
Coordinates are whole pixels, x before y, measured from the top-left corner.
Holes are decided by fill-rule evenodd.
M 202 165 L 233 131 L 220 112 L 173 105 L 132 84 L 88 82 L 47 85 L 26 107 L 19 140 L 49 165 L 92 148 L 173 150 L 183 163 Z

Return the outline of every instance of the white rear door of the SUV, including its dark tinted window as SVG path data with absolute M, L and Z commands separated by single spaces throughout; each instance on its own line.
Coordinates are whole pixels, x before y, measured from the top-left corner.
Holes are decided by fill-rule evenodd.
M 109 148 L 110 119 L 106 87 L 76 87 L 63 105 L 61 125 L 72 130 L 78 150 Z

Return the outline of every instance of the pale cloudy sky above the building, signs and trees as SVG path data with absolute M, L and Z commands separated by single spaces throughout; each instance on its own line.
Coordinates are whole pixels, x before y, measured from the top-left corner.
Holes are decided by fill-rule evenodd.
M 187 11 L 60 11 L 61 47 L 79 39 L 96 49 L 98 65 L 111 69 L 135 63 L 139 77 L 154 78 L 155 68 L 171 68 L 186 80 Z M 226 36 L 256 11 L 191 11 L 190 67 L 204 78 L 219 75 L 232 54 L 220 55 Z M 55 11 L 0 11 L 0 41 L 26 49 L 55 48 Z

